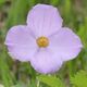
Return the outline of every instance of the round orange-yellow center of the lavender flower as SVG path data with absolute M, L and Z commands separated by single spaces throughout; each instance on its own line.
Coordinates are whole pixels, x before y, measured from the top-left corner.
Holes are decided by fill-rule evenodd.
M 47 37 L 39 37 L 37 40 L 37 45 L 41 48 L 46 48 L 49 45 L 49 39 Z

